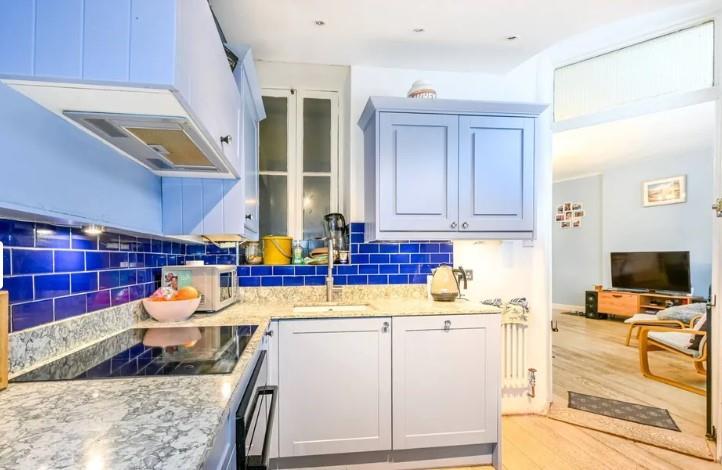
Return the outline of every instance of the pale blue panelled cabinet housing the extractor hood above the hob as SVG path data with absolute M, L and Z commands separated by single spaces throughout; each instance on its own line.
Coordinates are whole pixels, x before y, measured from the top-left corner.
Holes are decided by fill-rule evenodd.
M 243 173 L 240 91 L 205 1 L 2 1 L 0 80 L 158 175 Z

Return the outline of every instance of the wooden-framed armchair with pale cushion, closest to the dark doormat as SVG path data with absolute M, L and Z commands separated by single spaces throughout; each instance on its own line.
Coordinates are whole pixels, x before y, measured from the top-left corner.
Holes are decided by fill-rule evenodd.
M 695 327 L 692 328 L 670 328 L 664 326 L 642 327 L 639 335 L 639 367 L 642 375 L 649 379 L 705 396 L 706 391 L 703 388 L 695 387 L 669 377 L 656 375 L 652 373 L 649 368 L 649 352 L 663 350 L 688 359 L 694 365 L 697 373 L 705 375 L 707 373 L 704 368 L 705 361 L 707 360 L 707 332 L 698 328 L 700 321 L 702 321 L 701 318 L 693 320 L 692 324 L 695 325 Z M 702 336 L 699 350 L 689 347 L 690 341 L 694 336 Z

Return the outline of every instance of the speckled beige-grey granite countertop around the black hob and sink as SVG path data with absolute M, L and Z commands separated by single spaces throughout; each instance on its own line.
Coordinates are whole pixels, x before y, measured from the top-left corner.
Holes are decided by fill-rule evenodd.
M 272 319 L 499 313 L 477 302 L 384 299 L 365 310 L 294 313 L 293 305 L 236 304 L 182 323 L 135 327 L 257 324 L 231 374 L 10 384 L 0 392 L 0 469 L 200 468 L 231 397 Z

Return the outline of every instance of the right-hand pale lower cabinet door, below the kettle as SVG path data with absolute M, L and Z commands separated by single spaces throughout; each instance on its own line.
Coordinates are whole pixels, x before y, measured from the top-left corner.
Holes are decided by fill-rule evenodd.
M 499 316 L 393 319 L 394 449 L 497 441 Z

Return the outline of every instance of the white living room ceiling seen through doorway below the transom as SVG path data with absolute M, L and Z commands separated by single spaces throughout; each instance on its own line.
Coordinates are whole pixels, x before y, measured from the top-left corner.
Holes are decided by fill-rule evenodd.
M 554 180 L 624 163 L 714 149 L 715 103 L 647 114 L 554 134 Z

